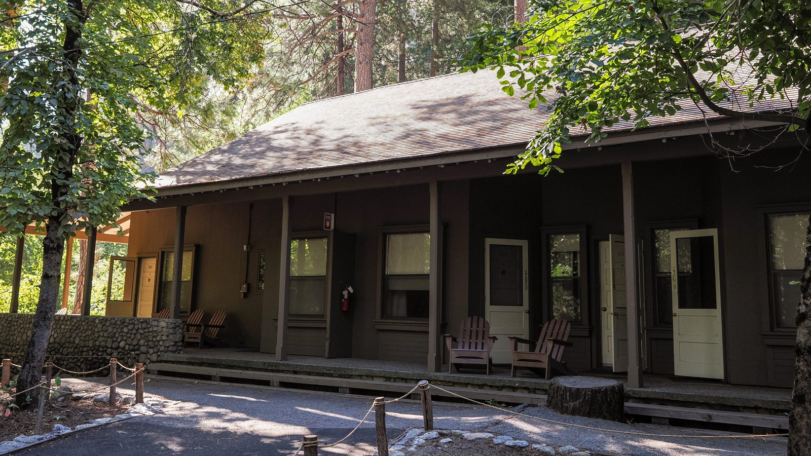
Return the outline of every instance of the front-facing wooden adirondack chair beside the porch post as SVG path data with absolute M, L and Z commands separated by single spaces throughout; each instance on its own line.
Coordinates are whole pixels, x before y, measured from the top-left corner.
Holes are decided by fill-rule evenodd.
M 451 373 L 453 364 L 484 364 L 487 366 L 487 375 L 490 375 L 490 351 L 496 336 L 490 335 L 490 323 L 481 316 L 471 316 L 459 325 L 459 338 L 445 334 L 445 344 L 450 352 L 448 359 L 448 373 Z M 453 342 L 457 342 L 456 348 Z

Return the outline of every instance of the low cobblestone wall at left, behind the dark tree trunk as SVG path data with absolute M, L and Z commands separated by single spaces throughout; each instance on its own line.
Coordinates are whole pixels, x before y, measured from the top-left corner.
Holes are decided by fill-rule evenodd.
M 31 337 L 32 314 L 0 313 L 0 356 L 23 360 Z M 86 372 L 118 358 L 131 367 L 157 361 L 161 353 L 182 349 L 181 320 L 122 316 L 54 316 L 47 358 L 60 368 Z M 100 372 L 105 375 L 105 372 Z

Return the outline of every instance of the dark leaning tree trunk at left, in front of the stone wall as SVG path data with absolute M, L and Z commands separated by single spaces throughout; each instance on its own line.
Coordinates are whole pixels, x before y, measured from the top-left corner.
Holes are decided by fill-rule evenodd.
M 82 147 L 83 138 L 76 130 L 76 114 L 79 112 L 79 105 L 82 102 L 79 92 L 79 75 L 76 68 L 79 66 L 79 58 L 82 50 L 79 47 L 79 40 L 82 37 L 84 21 L 84 6 L 82 0 L 67 0 L 68 8 L 72 17 L 65 19 L 65 41 L 62 43 L 62 69 L 67 73 L 67 81 L 62 95 L 57 97 L 57 115 L 62 117 L 62 123 L 58 126 L 60 150 L 59 159 L 54 162 L 52 169 L 46 179 L 50 182 L 51 204 L 55 209 L 48 217 L 45 225 L 45 239 L 42 242 L 42 278 L 40 282 L 40 299 L 36 303 L 36 313 L 34 314 L 34 324 L 31 338 L 28 340 L 28 349 L 25 351 L 22 368 L 17 381 L 17 392 L 34 388 L 40 382 L 42 374 L 42 364 L 45 363 L 45 353 L 48 350 L 51 329 L 54 326 L 54 312 L 59 299 L 59 282 L 62 273 L 62 253 L 65 250 L 65 235 L 62 232 L 64 226 L 70 224 L 67 220 L 67 212 L 62 206 L 62 202 L 70 190 L 68 183 L 73 178 L 73 166 L 79 149 Z M 41 389 L 34 388 L 27 394 L 20 394 L 15 399 L 20 408 L 32 406 L 36 400 L 28 401 L 28 398 L 39 398 Z

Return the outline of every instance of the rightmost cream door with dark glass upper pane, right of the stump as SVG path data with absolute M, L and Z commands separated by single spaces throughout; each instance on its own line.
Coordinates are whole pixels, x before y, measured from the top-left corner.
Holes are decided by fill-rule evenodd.
M 723 379 L 718 230 L 670 234 L 676 375 Z

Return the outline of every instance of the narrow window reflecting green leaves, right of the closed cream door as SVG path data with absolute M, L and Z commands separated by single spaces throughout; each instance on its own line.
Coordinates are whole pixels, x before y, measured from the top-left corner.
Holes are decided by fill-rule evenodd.
M 552 317 L 581 321 L 581 234 L 547 234 L 547 242 Z

